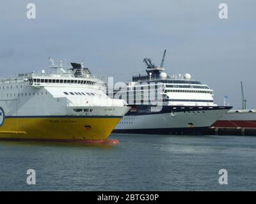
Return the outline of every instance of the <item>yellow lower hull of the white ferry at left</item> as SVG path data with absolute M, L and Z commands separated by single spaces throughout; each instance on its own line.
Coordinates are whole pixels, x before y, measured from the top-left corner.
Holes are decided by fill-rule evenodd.
M 8 118 L 0 127 L 0 139 L 106 140 L 119 117 Z

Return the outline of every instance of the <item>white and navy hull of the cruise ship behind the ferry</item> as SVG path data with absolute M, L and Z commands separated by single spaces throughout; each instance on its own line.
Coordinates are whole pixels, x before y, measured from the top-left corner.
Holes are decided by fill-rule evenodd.
M 143 106 L 128 112 L 113 133 L 202 135 L 212 123 L 228 112 L 227 106 L 164 106 L 159 113 L 145 112 Z

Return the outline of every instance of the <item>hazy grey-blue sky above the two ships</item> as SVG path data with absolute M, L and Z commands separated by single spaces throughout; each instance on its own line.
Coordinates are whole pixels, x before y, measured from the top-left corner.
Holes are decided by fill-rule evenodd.
M 26 5 L 36 4 L 36 19 Z M 218 5 L 228 4 L 228 19 Z M 1 1 L 1 76 L 40 71 L 55 61 L 85 61 L 92 72 L 131 80 L 144 73 L 144 57 L 166 72 L 191 73 L 214 89 L 216 103 L 256 108 L 255 0 Z

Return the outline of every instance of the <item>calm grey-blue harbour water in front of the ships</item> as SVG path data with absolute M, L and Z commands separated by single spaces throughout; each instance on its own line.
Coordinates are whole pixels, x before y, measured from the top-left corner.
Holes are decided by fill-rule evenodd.
M 256 137 L 111 135 L 119 145 L 0 142 L 0 190 L 256 190 Z M 26 171 L 36 171 L 36 185 Z M 218 171 L 228 171 L 220 185 Z

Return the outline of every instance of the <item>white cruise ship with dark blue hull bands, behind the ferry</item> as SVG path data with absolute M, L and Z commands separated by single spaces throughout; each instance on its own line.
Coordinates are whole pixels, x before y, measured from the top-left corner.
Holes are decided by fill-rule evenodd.
M 147 75 L 134 76 L 113 90 L 115 98 L 132 106 L 113 133 L 201 135 L 232 108 L 216 105 L 213 90 L 190 74 L 167 75 L 165 54 L 160 66 L 145 58 Z

